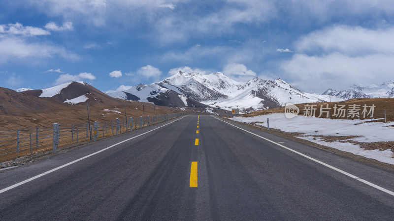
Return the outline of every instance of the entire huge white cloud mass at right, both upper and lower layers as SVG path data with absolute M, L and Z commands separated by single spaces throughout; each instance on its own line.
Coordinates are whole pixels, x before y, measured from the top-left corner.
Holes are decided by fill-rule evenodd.
M 303 54 L 283 61 L 280 68 L 290 83 L 312 92 L 344 89 L 358 82 L 380 84 L 393 79 L 392 36 L 394 28 L 316 30 L 296 41 L 297 51 Z

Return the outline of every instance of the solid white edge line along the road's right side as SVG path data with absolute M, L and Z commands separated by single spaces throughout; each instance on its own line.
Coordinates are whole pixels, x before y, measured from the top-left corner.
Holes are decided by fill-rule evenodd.
M 217 119 L 217 120 L 220 120 L 220 121 L 223 121 L 223 122 L 225 122 L 225 123 L 227 123 L 227 124 L 230 124 L 229 122 L 226 122 L 226 121 L 224 121 L 224 120 L 218 119 L 218 118 L 216 118 L 216 117 L 213 117 L 213 118 L 215 118 L 215 119 Z M 301 155 L 301 156 L 303 156 L 303 157 L 305 157 L 305 158 L 308 158 L 309 160 L 312 160 L 312 161 L 314 161 L 314 162 L 316 162 L 316 163 L 319 163 L 319 164 L 321 164 L 321 165 L 323 165 L 323 166 L 327 166 L 328 168 L 331 168 L 331 169 L 333 169 L 333 170 L 336 170 L 336 171 L 338 171 L 338 172 L 340 172 L 340 173 L 342 173 L 342 174 L 345 174 L 346 176 L 349 176 L 349 177 L 351 177 L 351 178 L 353 178 L 353 179 L 356 179 L 356 180 L 358 180 L 358 181 L 360 181 L 360 182 L 362 182 L 362 183 L 364 183 L 364 184 L 366 184 L 366 185 L 369 185 L 369 186 L 371 186 L 371 187 L 373 187 L 373 188 L 376 188 L 376 189 L 378 189 L 378 190 L 380 190 L 380 191 L 383 191 L 383 192 L 385 192 L 385 193 L 389 193 L 390 195 L 393 195 L 393 196 L 394 196 L 394 192 L 389 191 L 389 190 L 387 190 L 387 189 L 385 189 L 385 188 L 383 188 L 383 187 L 380 187 L 380 186 L 378 186 L 378 185 L 376 185 L 376 184 L 373 184 L 373 183 L 371 183 L 371 182 L 368 182 L 368 181 L 366 181 L 366 180 L 364 180 L 364 179 L 361 179 L 360 177 L 357 177 L 357 176 L 355 176 L 355 175 L 353 175 L 353 174 L 350 174 L 350 173 L 348 173 L 348 172 L 345 172 L 345 171 L 343 171 L 343 170 L 341 170 L 341 169 L 338 169 L 338 168 L 336 168 L 336 167 L 334 167 L 334 166 L 331 166 L 331 165 L 328 165 L 328 164 L 326 164 L 326 163 L 323 163 L 323 162 L 321 162 L 321 161 L 319 161 L 319 160 L 316 160 L 316 159 L 314 159 L 314 158 L 312 158 L 312 157 L 309 157 L 309 156 L 307 156 L 307 155 L 305 155 L 305 154 L 303 154 L 303 153 L 300 153 L 300 152 L 298 152 L 298 151 L 296 151 L 296 150 L 290 149 L 289 147 L 286 147 L 286 146 L 284 146 L 284 145 L 282 145 L 282 144 L 279 144 L 279 143 L 277 143 L 277 142 L 275 142 L 275 141 L 272 141 L 272 140 L 270 140 L 270 139 L 267 139 L 267 138 L 264 138 L 264 137 L 259 136 L 259 135 L 257 135 L 257 134 L 254 134 L 254 133 L 252 133 L 252 132 L 249 132 L 249 131 L 247 131 L 247 130 L 245 130 L 245 129 L 242 129 L 242 128 L 240 128 L 240 127 L 237 127 L 237 126 L 235 126 L 235 125 L 233 125 L 233 124 L 230 124 L 230 125 L 233 126 L 233 127 L 238 128 L 238 129 L 241 129 L 241 130 L 243 130 L 243 131 L 245 131 L 245 132 L 248 132 L 248 133 L 250 133 L 250 134 L 253 134 L 253 135 L 255 135 L 255 136 L 259 137 L 259 138 L 263 138 L 263 139 L 265 139 L 265 140 L 267 140 L 267 141 L 269 141 L 269 142 L 271 142 L 271 143 L 274 143 L 274 144 L 276 144 L 276 145 L 278 145 L 278 146 L 280 146 L 280 147 L 283 147 L 283 148 L 285 148 L 285 149 L 287 149 L 287 150 L 290 150 L 290 151 L 292 151 L 292 152 L 294 152 L 294 153 L 296 153 L 296 154 L 299 154 L 299 155 Z

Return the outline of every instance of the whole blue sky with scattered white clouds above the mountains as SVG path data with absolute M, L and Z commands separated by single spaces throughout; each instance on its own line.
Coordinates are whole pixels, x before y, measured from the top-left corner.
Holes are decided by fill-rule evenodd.
M 0 1 L 0 86 L 102 91 L 177 72 L 307 92 L 394 80 L 392 0 Z

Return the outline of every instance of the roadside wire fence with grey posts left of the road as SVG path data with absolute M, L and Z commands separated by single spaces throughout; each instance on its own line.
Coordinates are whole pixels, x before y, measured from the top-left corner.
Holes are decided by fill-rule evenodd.
M 116 118 L 104 122 L 86 124 L 58 124 L 50 127 L 17 129 L 0 132 L 0 162 L 17 157 L 33 155 L 34 153 L 50 150 L 55 153 L 59 146 L 78 144 L 87 141 L 97 141 L 99 138 L 117 136 L 132 130 L 158 124 L 174 119 L 187 112 L 177 112 L 154 116 Z

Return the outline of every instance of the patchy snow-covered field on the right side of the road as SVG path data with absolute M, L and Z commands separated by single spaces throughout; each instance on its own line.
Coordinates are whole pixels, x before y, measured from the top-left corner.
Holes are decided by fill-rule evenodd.
M 390 149 L 365 150 L 359 144 L 349 142 L 327 142 L 323 139 L 314 139 L 314 136 L 359 136 L 350 138 L 349 141 L 357 142 L 381 142 L 394 141 L 394 122 L 370 122 L 370 120 L 342 120 L 327 118 L 312 118 L 296 116 L 288 119 L 284 113 L 271 113 L 255 117 L 234 117 L 234 120 L 244 123 L 256 123 L 257 125 L 267 126 L 269 118 L 269 127 L 280 129 L 284 132 L 303 133 L 298 138 L 306 139 L 321 145 L 329 146 L 342 151 L 351 152 L 360 156 L 375 159 L 384 163 L 394 164 L 394 154 Z

